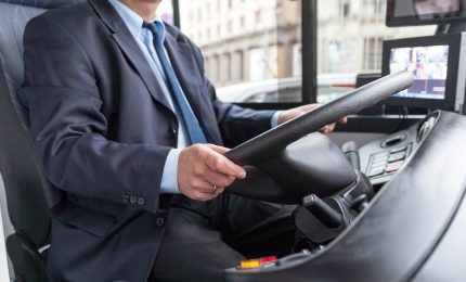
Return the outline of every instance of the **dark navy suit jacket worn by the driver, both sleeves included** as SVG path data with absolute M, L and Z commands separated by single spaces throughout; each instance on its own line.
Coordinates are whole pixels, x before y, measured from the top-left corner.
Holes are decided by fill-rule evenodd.
M 229 146 L 270 128 L 273 112 L 223 104 L 200 51 L 167 26 L 166 48 L 209 142 Z M 177 144 L 170 111 L 139 46 L 105 0 L 34 18 L 25 85 L 34 152 L 60 198 L 53 207 L 52 281 L 144 281 L 166 213 L 159 185 Z

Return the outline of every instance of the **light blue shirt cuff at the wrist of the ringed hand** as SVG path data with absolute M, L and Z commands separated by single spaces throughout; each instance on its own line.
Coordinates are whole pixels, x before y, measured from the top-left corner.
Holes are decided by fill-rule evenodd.
M 160 193 L 161 194 L 179 194 L 178 188 L 178 158 L 180 157 L 181 149 L 172 149 L 168 153 L 165 161 L 164 172 L 161 175 Z

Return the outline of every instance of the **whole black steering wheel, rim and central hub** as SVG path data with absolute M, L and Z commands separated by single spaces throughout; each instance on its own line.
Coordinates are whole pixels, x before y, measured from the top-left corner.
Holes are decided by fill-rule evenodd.
M 248 176 L 235 181 L 229 191 L 283 204 L 299 203 L 309 194 L 327 196 L 340 191 L 357 175 L 339 148 L 324 136 L 313 142 L 295 141 L 412 84 L 409 72 L 388 75 L 230 150 L 225 156 L 245 166 Z

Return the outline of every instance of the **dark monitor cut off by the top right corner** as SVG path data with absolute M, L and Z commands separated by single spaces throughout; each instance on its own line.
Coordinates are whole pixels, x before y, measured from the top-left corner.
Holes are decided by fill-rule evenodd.
M 387 26 L 466 22 L 466 0 L 387 0 Z

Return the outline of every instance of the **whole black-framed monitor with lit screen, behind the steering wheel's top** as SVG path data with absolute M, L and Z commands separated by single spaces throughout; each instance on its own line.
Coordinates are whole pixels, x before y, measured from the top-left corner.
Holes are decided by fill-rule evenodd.
M 414 76 L 409 89 L 393 94 L 385 103 L 462 112 L 466 80 L 465 35 L 384 41 L 383 75 L 409 70 Z

